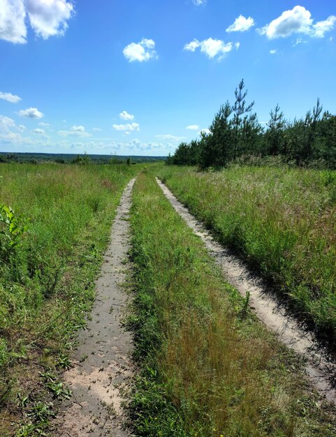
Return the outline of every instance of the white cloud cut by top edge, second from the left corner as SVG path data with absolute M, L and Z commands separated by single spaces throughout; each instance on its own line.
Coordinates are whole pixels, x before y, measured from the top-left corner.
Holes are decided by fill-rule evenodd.
M 64 35 L 74 12 L 73 3 L 66 0 L 26 0 L 26 8 L 31 27 L 43 39 Z

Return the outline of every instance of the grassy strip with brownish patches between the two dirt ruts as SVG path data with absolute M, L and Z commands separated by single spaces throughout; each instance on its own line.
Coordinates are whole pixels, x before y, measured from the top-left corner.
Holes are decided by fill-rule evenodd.
M 335 411 L 140 174 L 131 210 L 138 436 L 334 436 Z M 329 409 L 328 409 L 329 408 Z

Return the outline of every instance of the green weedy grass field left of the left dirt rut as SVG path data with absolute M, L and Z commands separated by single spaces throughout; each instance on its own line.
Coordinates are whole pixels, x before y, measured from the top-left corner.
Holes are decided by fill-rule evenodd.
M 16 436 L 44 435 L 45 399 L 68 397 L 57 373 L 70 365 L 135 167 L 0 164 L 1 436 L 13 436 L 12 420 Z

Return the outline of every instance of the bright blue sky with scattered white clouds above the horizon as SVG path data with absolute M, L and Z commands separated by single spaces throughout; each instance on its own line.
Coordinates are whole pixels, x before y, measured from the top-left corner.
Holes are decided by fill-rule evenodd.
M 0 151 L 166 156 L 242 78 L 265 126 L 335 77 L 332 0 L 0 0 Z

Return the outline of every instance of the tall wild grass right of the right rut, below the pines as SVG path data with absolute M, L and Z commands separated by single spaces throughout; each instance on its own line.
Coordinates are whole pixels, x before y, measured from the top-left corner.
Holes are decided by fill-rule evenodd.
M 271 279 L 302 320 L 336 338 L 336 172 L 166 166 L 157 174 L 219 241 Z

